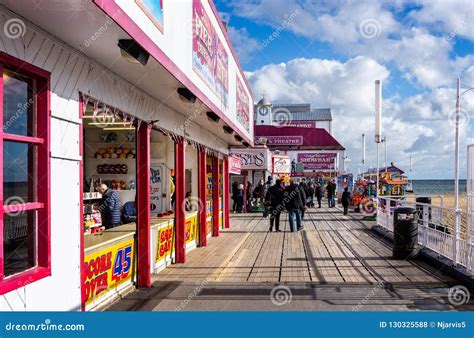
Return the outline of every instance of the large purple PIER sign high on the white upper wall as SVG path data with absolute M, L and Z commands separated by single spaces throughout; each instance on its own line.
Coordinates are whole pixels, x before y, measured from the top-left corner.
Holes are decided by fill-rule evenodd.
M 227 107 L 229 56 L 201 0 L 193 0 L 193 69 Z

